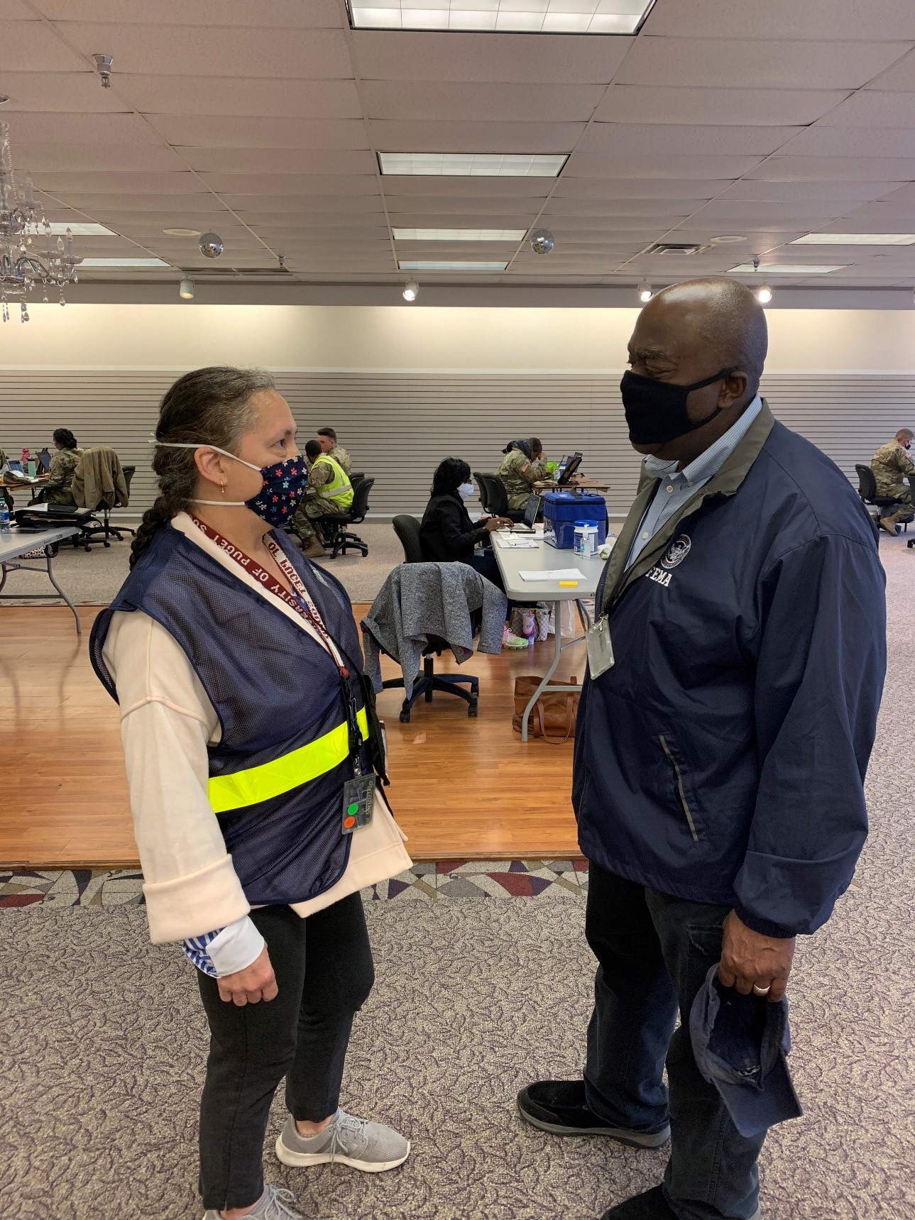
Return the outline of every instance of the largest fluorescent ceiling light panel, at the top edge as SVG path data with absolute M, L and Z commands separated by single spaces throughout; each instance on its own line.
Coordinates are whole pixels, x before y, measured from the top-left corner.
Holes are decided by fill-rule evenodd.
M 348 0 L 354 29 L 634 34 L 654 0 Z

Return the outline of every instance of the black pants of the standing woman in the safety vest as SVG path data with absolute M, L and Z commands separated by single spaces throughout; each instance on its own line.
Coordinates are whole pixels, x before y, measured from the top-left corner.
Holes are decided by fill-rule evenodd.
M 320 1122 L 336 1113 L 353 1017 L 375 982 L 357 893 L 306 920 L 289 906 L 264 906 L 251 919 L 267 942 L 276 999 L 238 1008 L 198 971 L 210 1022 L 200 1102 L 205 1208 L 246 1208 L 264 1193 L 264 1136 L 283 1076 L 293 1118 Z

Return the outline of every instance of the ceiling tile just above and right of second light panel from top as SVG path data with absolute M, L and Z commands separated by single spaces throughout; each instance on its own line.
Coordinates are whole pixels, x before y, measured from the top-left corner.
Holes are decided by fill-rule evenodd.
M 691 152 L 717 156 L 766 156 L 775 152 L 800 127 L 691 127 L 686 123 L 592 123 L 582 137 L 578 152 L 604 156 L 639 152 Z

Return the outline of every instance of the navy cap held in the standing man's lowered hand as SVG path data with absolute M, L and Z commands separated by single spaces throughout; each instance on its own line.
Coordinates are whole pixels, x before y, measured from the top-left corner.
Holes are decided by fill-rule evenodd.
M 788 1000 L 773 1004 L 725 987 L 712 966 L 693 1000 L 689 1037 L 699 1071 L 714 1085 L 742 1136 L 804 1111 L 788 1075 Z

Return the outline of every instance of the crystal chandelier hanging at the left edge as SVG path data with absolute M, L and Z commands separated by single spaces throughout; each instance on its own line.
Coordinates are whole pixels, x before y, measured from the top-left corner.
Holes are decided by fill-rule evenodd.
M 34 238 L 43 237 L 48 242 L 41 255 L 32 250 Z M 20 304 L 20 317 L 28 322 L 28 295 L 41 288 L 43 300 L 48 301 L 48 289 L 56 284 L 60 303 L 65 305 L 63 285 L 76 284 L 77 259 L 73 254 L 73 234 L 67 229 L 67 243 L 59 237 L 56 243 L 51 234 L 41 204 L 35 204 L 32 183 L 27 183 L 24 194 L 20 190 L 12 172 L 12 154 L 10 151 L 10 128 L 0 123 L 0 316 L 4 322 L 10 320 L 10 304 Z

